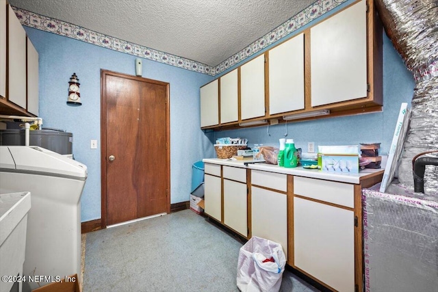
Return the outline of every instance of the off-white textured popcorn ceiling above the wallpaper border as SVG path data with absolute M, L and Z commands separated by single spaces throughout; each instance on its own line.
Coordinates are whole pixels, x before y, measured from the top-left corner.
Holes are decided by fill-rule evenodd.
M 316 0 L 8 0 L 17 8 L 216 66 Z

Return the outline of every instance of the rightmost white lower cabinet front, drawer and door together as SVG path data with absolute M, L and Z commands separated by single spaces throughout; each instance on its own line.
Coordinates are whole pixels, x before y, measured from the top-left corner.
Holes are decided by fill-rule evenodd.
M 354 187 L 294 176 L 294 265 L 336 291 L 355 291 Z

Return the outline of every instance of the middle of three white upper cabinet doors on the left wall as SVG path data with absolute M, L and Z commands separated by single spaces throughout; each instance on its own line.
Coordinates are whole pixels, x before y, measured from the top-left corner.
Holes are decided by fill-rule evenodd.
M 26 108 L 26 32 L 8 5 L 8 99 Z

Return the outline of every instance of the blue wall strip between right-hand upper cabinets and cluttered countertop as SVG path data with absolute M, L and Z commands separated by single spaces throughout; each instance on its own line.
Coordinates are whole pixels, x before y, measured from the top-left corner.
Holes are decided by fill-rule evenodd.
M 404 66 L 391 41 L 383 37 L 383 111 L 373 114 L 324 118 L 305 122 L 288 122 L 287 138 L 293 138 L 297 148 L 307 152 L 307 142 L 318 145 L 357 145 L 381 142 L 381 155 L 387 155 L 396 127 L 401 103 L 411 103 L 415 82 Z M 279 147 L 286 133 L 285 124 L 215 132 L 218 137 L 248 138 L 248 144 Z M 214 156 L 212 156 L 214 157 Z

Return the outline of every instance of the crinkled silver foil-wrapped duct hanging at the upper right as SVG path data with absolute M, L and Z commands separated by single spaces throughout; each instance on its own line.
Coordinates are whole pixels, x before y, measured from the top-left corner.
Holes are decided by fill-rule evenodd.
M 413 157 L 437 150 L 438 145 L 437 1 L 376 0 L 375 3 L 387 35 L 415 79 L 410 129 L 398 167 L 400 183 L 413 190 Z M 438 166 L 426 166 L 424 188 L 429 193 L 438 192 Z

